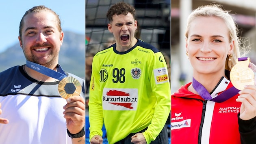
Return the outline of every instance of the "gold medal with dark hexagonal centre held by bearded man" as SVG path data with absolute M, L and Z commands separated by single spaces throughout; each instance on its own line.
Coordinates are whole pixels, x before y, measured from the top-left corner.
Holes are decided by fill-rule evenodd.
M 61 97 L 67 99 L 72 96 L 79 96 L 82 87 L 76 78 L 68 76 L 60 81 L 58 91 Z

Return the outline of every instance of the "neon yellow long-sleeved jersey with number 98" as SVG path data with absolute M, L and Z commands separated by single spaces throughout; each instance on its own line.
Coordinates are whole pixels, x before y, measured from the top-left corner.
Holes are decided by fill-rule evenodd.
M 126 52 L 116 44 L 93 57 L 89 92 L 90 140 L 102 136 L 109 144 L 143 132 L 147 143 L 163 129 L 171 107 L 171 89 L 163 54 L 141 40 Z

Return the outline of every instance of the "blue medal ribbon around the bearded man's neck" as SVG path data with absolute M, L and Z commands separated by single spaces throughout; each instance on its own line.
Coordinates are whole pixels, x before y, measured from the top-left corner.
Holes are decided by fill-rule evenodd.
M 26 61 L 26 66 L 28 68 L 31 68 L 31 69 L 37 71 L 37 72 L 40 72 L 41 74 L 50 76 L 50 77 L 58 79 L 58 80 L 62 80 L 63 78 L 67 77 L 64 70 L 61 68 L 61 65 L 59 65 L 59 64 L 57 66 L 57 72 L 50 68 L 36 64 L 36 63 L 28 61 L 28 60 Z

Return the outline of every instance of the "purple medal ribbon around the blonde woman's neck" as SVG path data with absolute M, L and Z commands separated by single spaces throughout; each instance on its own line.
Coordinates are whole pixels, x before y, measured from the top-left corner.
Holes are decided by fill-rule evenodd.
M 222 80 L 223 78 L 221 78 Z M 220 81 L 221 81 L 220 80 Z M 219 85 L 219 84 L 218 84 Z M 204 100 L 210 100 L 213 102 L 224 102 L 234 95 L 237 95 L 240 90 L 236 89 L 235 87 L 230 87 L 229 89 L 226 89 L 221 94 L 217 95 L 216 97 L 212 97 L 210 93 L 206 90 L 206 88 L 199 83 L 195 78 L 193 77 L 192 81 L 192 87 L 197 91 L 197 93 L 204 99 Z

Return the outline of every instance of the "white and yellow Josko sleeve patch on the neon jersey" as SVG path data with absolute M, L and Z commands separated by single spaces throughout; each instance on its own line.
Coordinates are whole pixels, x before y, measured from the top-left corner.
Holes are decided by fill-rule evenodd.
M 154 69 L 154 77 L 156 84 L 166 83 L 169 81 L 169 76 L 165 67 Z

